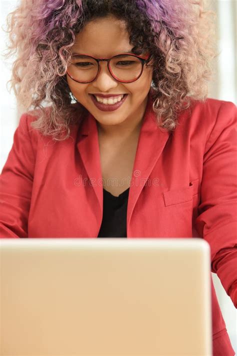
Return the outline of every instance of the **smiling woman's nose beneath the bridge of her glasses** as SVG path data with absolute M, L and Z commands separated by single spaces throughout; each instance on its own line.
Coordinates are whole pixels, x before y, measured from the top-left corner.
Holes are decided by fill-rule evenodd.
M 109 89 L 115 88 L 119 82 L 110 74 L 107 62 L 100 61 L 99 64 L 99 73 L 97 78 L 92 81 L 91 84 L 99 91 L 109 91 Z

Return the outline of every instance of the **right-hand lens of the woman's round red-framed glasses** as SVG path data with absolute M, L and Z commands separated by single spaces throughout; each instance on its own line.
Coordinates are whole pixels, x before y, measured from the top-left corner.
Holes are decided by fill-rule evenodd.
M 118 55 L 110 60 L 110 70 L 118 80 L 136 79 L 142 70 L 142 64 L 133 55 Z

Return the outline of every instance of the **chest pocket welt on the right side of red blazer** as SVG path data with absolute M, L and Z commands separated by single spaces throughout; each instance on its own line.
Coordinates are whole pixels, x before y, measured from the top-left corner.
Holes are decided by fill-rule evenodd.
M 192 201 L 193 195 L 198 193 L 199 179 L 195 179 L 189 183 L 189 186 L 179 189 L 171 189 L 163 191 L 164 205 L 170 206 Z

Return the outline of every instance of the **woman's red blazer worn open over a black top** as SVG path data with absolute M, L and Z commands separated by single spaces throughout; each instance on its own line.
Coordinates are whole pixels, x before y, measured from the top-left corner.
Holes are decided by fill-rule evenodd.
M 237 307 L 236 106 L 193 100 L 168 133 L 149 93 L 127 205 L 127 238 L 201 237 L 211 271 Z M 1 237 L 96 238 L 103 190 L 96 120 L 85 115 L 67 140 L 52 141 L 20 117 L 1 174 Z M 213 355 L 232 356 L 211 279 Z

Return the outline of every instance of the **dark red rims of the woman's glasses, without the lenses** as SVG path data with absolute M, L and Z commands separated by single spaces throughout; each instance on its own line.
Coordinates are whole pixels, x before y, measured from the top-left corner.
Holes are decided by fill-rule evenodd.
M 134 54 L 134 53 L 121 53 L 121 54 L 116 54 L 116 55 L 113 55 L 112 57 L 107 57 L 107 58 L 96 58 L 96 57 L 93 57 L 92 55 L 82 54 L 82 53 L 74 53 L 74 54 L 72 54 L 72 56 L 74 56 L 74 55 L 86 55 L 87 57 L 90 57 L 90 58 L 95 59 L 96 62 L 98 63 L 98 71 L 97 71 L 97 74 L 96 74 L 96 76 L 95 76 L 94 79 L 89 80 L 89 81 L 79 81 L 79 80 L 76 80 L 75 78 L 73 78 L 72 75 L 69 74 L 68 70 L 66 71 L 67 75 L 69 75 L 69 77 L 70 77 L 72 80 L 75 80 L 75 81 L 77 81 L 78 83 L 81 83 L 81 84 L 91 83 L 92 81 L 94 81 L 94 80 L 97 78 L 97 76 L 98 76 L 98 74 L 99 74 L 99 72 L 100 72 L 100 64 L 99 64 L 100 61 L 106 61 L 106 62 L 107 62 L 107 67 L 108 67 L 109 73 L 112 75 L 112 77 L 113 77 L 114 79 L 116 79 L 117 81 L 119 81 L 119 82 L 121 82 L 121 83 L 131 83 L 131 82 L 136 81 L 137 79 L 139 79 L 139 77 L 141 76 L 141 74 L 142 74 L 142 72 L 143 72 L 144 64 L 147 63 L 147 62 L 149 61 L 149 59 L 150 59 L 150 55 L 149 55 L 149 54 L 147 54 L 147 55 L 145 55 L 145 56 L 141 56 L 141 55 L 136 55 L 136 54 Z M 136 57 L 136 58 L 138 58 L 138 59 L 140 60 L 140 62 L 141 62 L 141 64 L 142 64 L 142 68 L 141 68 L 141 72 L 140 72 L 139 76 L 138 76 L 136 79 L 134 79 L 134 80 L 119 80 L 115 75 L 113 75 L 113 73 L 112 73 L 112 71 L 111 71 L 111 68 L 110 68 L 110 66 L 109 66 L 109 62 L 110 62 L 110 60 L 111 60 L 112 58 L 118 57 L 118 56 L 120 56 L 120 55 L 132 55 L 133 57 Z

